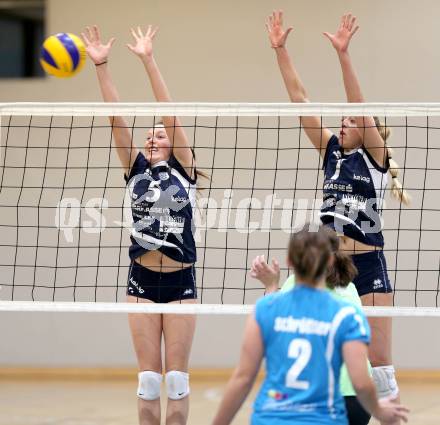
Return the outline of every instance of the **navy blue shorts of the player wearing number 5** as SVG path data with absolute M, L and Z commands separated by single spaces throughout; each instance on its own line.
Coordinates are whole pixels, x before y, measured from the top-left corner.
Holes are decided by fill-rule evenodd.
M 133 261 L 128 272 L 127 295 L 155 303 L 196 299 L 195 268 L 154 272 Z

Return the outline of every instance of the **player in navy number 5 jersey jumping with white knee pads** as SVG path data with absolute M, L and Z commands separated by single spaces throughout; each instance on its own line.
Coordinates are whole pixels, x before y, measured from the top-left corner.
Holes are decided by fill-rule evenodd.
M 171 100 L 153 56 L 157 29 L 131 30 L 133 45 L 147 72 L 157 101 Z M 98 28 L 83 34 L 87 53 L 96 65 L 106 102 L 119 97 L 108 70 L 114 39 L 101 42 Z M 180 121 L 163 117 L 145 136 L 143 151 L 133 143 L 122 117 L 110 117 L 116 151 L 131 197 L 133 229 L 127 284 L 129 302 L 194 303 L 197 298 L 194 263 L 193 209 L 196 195 L 195 157 Z M 129 324 L 139 364 L 138 410 L 142 425 L 160 424 L 162 382 L 161 342 L 165 341 L 166 423 L 185 424 L 189 409 L 188 358 L 195 317 L 131 314 Z

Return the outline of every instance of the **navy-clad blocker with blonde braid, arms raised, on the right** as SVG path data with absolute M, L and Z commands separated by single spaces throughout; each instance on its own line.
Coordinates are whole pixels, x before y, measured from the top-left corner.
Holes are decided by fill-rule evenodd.
M 283 29 L 281 11 L 266 23 L 271 45 L 292 102 L 308 102 L 307 94 L 285 47 L 292 28 Z M 324 33 L 335 48 L 342 68 L 348 102 L 364 102 L 348 46 L 358 30 L 356 18 L 344 15 L 335 34 Z M 324 203 L 322 222 L 334 228 L 341 249 L 352 255 L 358 269 L 354 280 L 363 305 L 390 306 L 392 288 L 388 278 L 381 208 L 392 176 L 392 193 L 404 203 L 409 197 L 397 179 L 398 166 L 386 145 L 389 132 L 375 117 L 345 117 L 338 135 L 322 128 L 320 117 L 301 117 L 303 128 L 323 157 Z M 370 318 L 369 350 L 373 378 L 380 396 L 398 396 L 391 360 L 391 319 Z

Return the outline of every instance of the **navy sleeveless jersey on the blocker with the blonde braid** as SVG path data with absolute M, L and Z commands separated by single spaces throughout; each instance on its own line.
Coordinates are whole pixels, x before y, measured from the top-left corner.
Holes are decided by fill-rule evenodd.
M 382 204 L 388 168 L 380 167 L 363 147 L 344 152 L 338 138 L 332 135 L 323 169 L 322 223 L 338 234 L 383 247 Z

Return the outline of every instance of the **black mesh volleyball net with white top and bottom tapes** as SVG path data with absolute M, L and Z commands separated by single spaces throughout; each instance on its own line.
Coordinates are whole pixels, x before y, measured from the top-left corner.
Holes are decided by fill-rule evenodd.
M 369 315 L 440 316 L 440 104 L 0 104 L 0 311 L 246 314 L 264 294 L 249 276 L 264 254 L 285 263 L 290 234 L 319 223 L 322 157 L 299 116 L 338 132 L 342 116 L 391 129 L 410 206 L 383 206 L 393 307 Z M 196 152 L 198 302 L 126 303 L 130 197 L 108 116 L 134 143 L 181 117 Z M 291 271 L 281 267 L 281 281 Z

